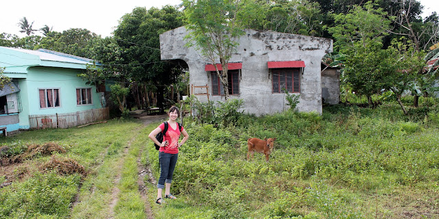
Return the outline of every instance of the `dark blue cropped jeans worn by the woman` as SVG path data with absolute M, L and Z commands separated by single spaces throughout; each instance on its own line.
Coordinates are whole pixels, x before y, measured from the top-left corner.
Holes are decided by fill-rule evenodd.
M 164 189 L 165 183 L 172 182 L 172 175 L 174 175 L 177 159 L 178 153 L 158 153 L 158 162 L 160 162 L 160 178 L 158 178 L 157 188 Z

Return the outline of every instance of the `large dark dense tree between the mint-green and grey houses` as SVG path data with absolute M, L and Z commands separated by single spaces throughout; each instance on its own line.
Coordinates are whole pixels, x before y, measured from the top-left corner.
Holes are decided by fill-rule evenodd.
M 159 34 L 182 26 L 181 16 L 182 12 L 171 5 L 160 10 L 134 8 L 122 16 L 114 38 L 95 43 L 95 59 L 104 68 L 93 68 L 82 77 L 89 83 L 112 79 L 130 84 L 132 101 L 138 108 L 149 106 L 149 96 L 156 96 L 158 100 L 153 102 L 163 109 L 165 88 L 177 81 L 181 69 L 161 60 Z

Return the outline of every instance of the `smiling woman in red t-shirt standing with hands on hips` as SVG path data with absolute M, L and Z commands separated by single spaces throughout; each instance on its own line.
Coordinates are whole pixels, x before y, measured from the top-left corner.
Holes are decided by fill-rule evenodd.
M 148 136 L 154 143 L 160 145 L 158 150 L 158 161 L 160 162 L 160 178 L 157 183 L 157 204 L 163 201 L 162 192 L 165 188 L 165 198 L 176 199 L 176 196 L 171 195 L 171 182 L 174 169 L 178 159 L 178 148 L 185 144 L 189 135 L 185 128 L 181 127 L 176 122 L 179 115 L 178 107 L 172 106 L 169 109 L 169 120 L 167 120 L 167 131 L 163 133 L 163 142 L 158 142 L 156 135 L 165 129 L 165 123 L 159 125 L 152 130 Z M 178 143 L 180 134 L 183 134 L 183 139 Z

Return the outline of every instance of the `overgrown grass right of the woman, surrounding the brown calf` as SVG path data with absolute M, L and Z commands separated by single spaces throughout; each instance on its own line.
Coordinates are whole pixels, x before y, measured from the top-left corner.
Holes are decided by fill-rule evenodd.
M 401 113 L 334 106 L 241 116 L 226 128 L 187 120 L 173 183 L 183 200 L 158 218 L 438 218 L 438 124 Z M 270 162 L 246 160 L 250 137 L 277 138 Z

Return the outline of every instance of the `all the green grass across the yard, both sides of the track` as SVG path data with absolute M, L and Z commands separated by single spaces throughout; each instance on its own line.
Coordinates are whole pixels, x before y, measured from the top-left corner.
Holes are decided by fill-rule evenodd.
M 386 103 L 325 107 L 321 116 L 242 115 L 229 127 L 185 120 L 190 138 L 171 190 L 178 199 L 156 205 L 156 185 L 145 178 L 147 202 L 154 218 L 439 218 L 436 110 L 404 116 Z M 16 172 L 29 176 L 0 189 L 0 218 L 105 218 L 115 186 L 113 216 L 146 218 L 137 160 L 158 179 L 158 152 L 147 138 L 158 125 L 111 120 L 1 139 L 11 154 L 29 143 L 57 142 L 67 150 L 58 156 L 75 159 L 88 175 L 31 175 L 26 168 L 38 170 L 49 157 L 27 160 Z M 246 160 L 250 137 L 277 138 L 269 162 L 258 153 Z

